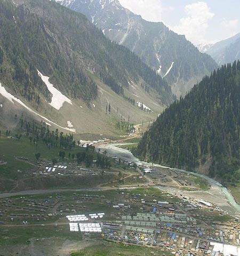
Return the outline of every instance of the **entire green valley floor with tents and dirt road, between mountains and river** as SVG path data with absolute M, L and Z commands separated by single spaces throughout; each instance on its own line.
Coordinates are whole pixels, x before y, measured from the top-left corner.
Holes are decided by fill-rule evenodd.
M 97 143 L 96 151 L 100 149 L 104 154 L 103 150 L 107 150 L 106 154 L 113 157 L 111 143 L 131 147 L 147 125 L 140 125 L 135 133 L 117 141 Z M 26 138 L 2 138 L 0 143 L 0 185 L 4 185 L 0 194 L 0 255 L 143 256 L 189 250 L 209 255 L 207 251 L 214 248 L 211 243 L 221 243 L 222 239 L 238 246 L 240 226 L 218 208 L 225 207 L 226 202 L 219 196 L 218 187 L 206 179 L 161 166 L 139 168 L 124 158 L 127 155 L 123 148 L 118 148 L 123 150 L 121 161 L 112 158 L 110 169 L 94 165 L 86 168 L 66 157 L 58 163 L 67 166 L 65 171 L 56 167 L 53 173 L 45 166 L 52 166 L 51 158 L 58 156 L 58 149 L 46 150 L 41 143 L 36 148 Z M 82 150 L 72 149 L 69 153 Z M 35 159 L 37 152 L 42 156 L 39 163 Z M 151 173 L 144 174 L 145 167 Z M 100 223 L 101 234 L 69 231 L 66 215 L 97 212 L 104 212 L 104 218 L 89 222 Z M 143 223 L 138 219 L 141 214 L 153 219 Z M 205 249 L 199 249 L 199 245 Z

